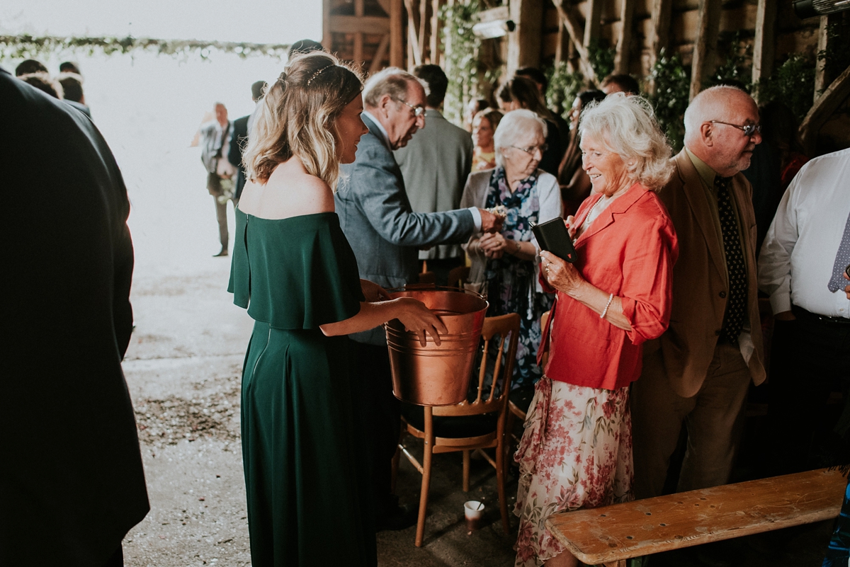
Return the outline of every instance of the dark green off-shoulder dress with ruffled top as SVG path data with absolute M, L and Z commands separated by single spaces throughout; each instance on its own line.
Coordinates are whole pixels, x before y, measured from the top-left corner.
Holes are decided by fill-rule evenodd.
M 256 322 L 241 407 L 253 567 L 377 564 L 351 348 L 319 328 L 363 300 L 336 213 L 237 210 L 229 291 Z

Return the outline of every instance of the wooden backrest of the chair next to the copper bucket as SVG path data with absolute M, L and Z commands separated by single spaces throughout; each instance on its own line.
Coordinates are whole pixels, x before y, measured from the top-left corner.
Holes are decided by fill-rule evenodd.
M 496 356 L 492 356 L 490 349 L 496 345 L 496 341 L 493 340 L 496 336 L 499 337 L 499 346 Z M 484 351 L 481 352 L 478 390 L 475 400 L 462 401 L 456 406 L 434 407 L 433 415 L 476 415 L 499 412 L 507 407 L 507 394 L 511 390 L 513 363 L 516 362 L 517 358 L 519 315 L 510 313 L 499 317 L 484 317 L 481 339 L 484 343 Z M 492 377 L 492 384 L 489 394 L 484 396 L 484 382 L 488 376 Z M 497 387 L 500 377 L 502 377 L 502 383 L 500 387 Z M 497 393 L 498 396 L 496 396 Z

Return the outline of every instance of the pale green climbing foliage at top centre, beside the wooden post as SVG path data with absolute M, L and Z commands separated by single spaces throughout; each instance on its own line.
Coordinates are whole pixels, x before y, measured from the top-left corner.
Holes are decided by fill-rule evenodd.
M 449 78 L 443 110 L 456 124 L 463 121 L 463 109 L 479 90 L 480 40 L 473 34 L 479 10 L 478 0 L 458 0 L 439 8 L 440 20 L 445 22 L 441 35 L 445 75 Z

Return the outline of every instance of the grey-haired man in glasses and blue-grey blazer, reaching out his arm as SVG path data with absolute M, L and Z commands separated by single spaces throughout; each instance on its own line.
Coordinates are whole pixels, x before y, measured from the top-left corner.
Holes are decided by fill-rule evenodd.
M 336 195 L 340 226 L 357 257 L 360 278 L 385 288 L 417 281 L 417 250 L 460 243 L 474 232 L 493 231 L 501 219 L 483 209 L 416 213 L 393 150 L 405 146 L 425 127 L 422 81 L 400 69 L 382 70 L 363 91 L 363 121 L 369 133 L 360 138 L 348 177 Z M 380 300 L 380 298 L 366 298 Z M 390 491 L 390 462 L 399 441 L 399 402 L 392 392 L 383 328 L 351 335 L 360 353 L 361 407 L 365 437 L 372 455 L 377 528 L 402 529 L 416 523 L 413 510 L 399 507 Z

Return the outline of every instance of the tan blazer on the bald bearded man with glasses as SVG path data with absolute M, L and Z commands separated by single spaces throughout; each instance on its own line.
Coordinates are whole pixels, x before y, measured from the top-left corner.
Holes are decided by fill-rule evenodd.
M 679 396 L 691 397 L 700 390 L 714 356 L 726 311 L 728 282 L 723 240 L 717 234 L 700 174 L 684 149 L 673 161 L 676 172 L 659 194 L 670 211 L 679 241 L 679 259 L 673 267 L 673 309 L 670 327 L 660 339 L 644 346 L 644 354 L 660 349 L 673 390 Z M 755 346 L 750 375 L 758 385 L 764 381 L 765 372 L 757 299 L 756 216 L 752 187 L 741 173 L 732 178 L 732 190 L 743 233 L 749 287 L 747 314 Z

